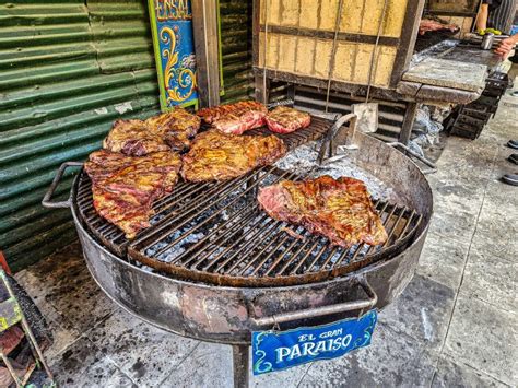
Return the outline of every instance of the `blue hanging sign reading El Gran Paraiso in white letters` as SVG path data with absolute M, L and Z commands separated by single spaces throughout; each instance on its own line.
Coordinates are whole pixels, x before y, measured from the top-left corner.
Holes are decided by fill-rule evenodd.
M 289 331 L 255 331 L 251 352 L 254 375 L 286 369 L 317 360 L 335 358 L 367 346 L 378 315 Z

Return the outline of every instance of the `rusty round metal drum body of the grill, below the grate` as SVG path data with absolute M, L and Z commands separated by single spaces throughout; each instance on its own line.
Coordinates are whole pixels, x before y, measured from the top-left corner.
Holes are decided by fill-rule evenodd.
M 249 343 L 251 330 L 269 329 L 255 324 L 261 318 L 357 299 L 361 279 L 373 286 L 378 295 L 376 307 L 382 308 L 403 292 L 415 272 L 432 216 L 432 190 L 419 167 L 399 151 L 364 134 L 358 136 L 357 143 L 362 152 L 352 153 L 351 157 L 397 189 L 400 204 L 423 215 L 412 244 L 390 259 L 319 283 L 252 289 L 214 286 L 151 273 L 120 259 L 86 232 L 73 207 L 89 269 L 105 293 L 128 311 L 165 330 L 204 341 Z M 75 198 L 76 192 L 72 193 Z M 351 313 L 294 320 L 281 328 L 321 325 L 349 316 Z

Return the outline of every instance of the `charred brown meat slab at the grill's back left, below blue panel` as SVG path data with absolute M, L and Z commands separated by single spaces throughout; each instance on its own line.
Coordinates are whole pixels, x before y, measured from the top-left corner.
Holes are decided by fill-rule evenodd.
M 146 120 L 117 120 L 103 146 L 130 156 L 142 156 L 162 151 L 187 151 L 200 128 L 198 116 L 176 108 Z

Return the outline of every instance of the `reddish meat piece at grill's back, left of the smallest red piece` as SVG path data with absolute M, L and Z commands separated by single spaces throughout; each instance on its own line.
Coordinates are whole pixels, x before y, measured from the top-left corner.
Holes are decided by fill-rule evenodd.
M 203 121 L 211 124 L 220 132 L 242 134 L 264 125 L 268 109 L 264 105 L 245 101 L 198 110 Z

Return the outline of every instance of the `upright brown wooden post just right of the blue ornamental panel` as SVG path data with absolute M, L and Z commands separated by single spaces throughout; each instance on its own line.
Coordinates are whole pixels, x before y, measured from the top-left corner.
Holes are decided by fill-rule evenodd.
M 217 0 L 192 0 L 191 4 L 200 107 L 220 105 Z

